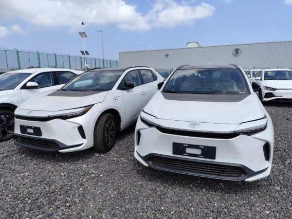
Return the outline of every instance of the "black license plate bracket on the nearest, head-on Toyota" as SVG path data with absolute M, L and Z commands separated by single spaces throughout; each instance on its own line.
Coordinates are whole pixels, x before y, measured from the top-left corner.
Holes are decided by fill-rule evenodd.
M 187 148 L 194 148 L 193 151 L 197 151 L 198 153 L 190 153 L 186 152 Z M 199 153 L 201 150 L 201 154 Z M 192 151 L 192 149 L 188 149 L 188 151 Z M 172 143 L 172 153 L 174 155 L 182 155 L 188 157 L 199 157 L 205 159 L 216 159 L 216 147 L 215 146 L 201 146 L 201 145 L 190 145 L 190 144 L 183 144 L 183 143 Z

